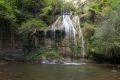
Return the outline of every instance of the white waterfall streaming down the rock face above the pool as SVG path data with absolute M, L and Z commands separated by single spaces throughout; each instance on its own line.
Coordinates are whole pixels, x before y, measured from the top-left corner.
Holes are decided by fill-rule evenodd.
M 82 29 L 80 27 L 79 16 L 63 15 L 56 20 L 56 22 L 50 27 L 50 29 L 52 31 L 54 31 L 54 33 L 55 33 L 56 30 L 65 31 L 66 35 L 65 35 L 65 38 L 63 40 L 63 42 L 65 42 L 64 45 L 67 45 L 66 47 L 68 47 L 68 44 L 69 44 L 69 48 L 70 48 L 71 47 L 70 45 L 73 44 L 72 47 L 75 50 L 74 52 L 72 52 L 73 56 L 80 53 L 79 57 L 84 58 L 84 56 L 85 56 L 85 46 L 84 46 Z M 56 34 L 54 34 L 54 36 L 55 35 Z M 78 46 L 81 47 L 80 52 L 77 51 Z M 65 53 L 66 53 L 66 51 L 65 51 Z M 74 62 L 65 63 L 65 64 L 77 65 Z

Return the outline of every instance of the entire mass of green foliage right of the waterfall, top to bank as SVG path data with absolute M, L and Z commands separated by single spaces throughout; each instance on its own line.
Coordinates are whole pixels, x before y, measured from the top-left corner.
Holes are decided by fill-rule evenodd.
M 95 60 L 119 61 L 116 58 L 119 57 L 120 48 L 118 3 L 118 0 L 89 0 L 84 8 L 88 16 L 81 19 L 81 27 L 85 30 L 86 52 L 92 54 Z

